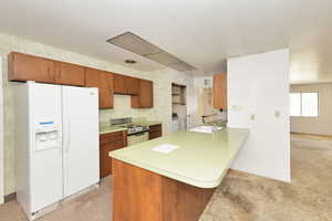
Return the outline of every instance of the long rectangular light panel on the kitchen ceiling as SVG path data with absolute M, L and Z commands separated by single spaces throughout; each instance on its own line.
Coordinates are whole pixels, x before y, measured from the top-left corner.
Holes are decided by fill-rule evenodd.
M 194 66 L 187 64 L 186 62 L 179 60 L 178 57 L 165 52 L 158 46 L 147 42 L 146 40 L 133 34 L 132 32 L 126 32 L 124 34 L 114 36 L 107 40 L 108 43 L 115 44 L 122 49 L 131 51 L 133 53 L 139 54 L 155 62 L 164 64 L 170 69 L 177 70 L 179 72 L 193 71 Z

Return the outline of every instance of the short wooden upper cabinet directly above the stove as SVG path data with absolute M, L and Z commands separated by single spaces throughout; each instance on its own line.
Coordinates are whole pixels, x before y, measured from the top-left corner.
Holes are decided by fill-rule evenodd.
M 114 74 L 114 93 L 137 95 L 139 87 L 139 78 L 125 76 L 122 74 Z

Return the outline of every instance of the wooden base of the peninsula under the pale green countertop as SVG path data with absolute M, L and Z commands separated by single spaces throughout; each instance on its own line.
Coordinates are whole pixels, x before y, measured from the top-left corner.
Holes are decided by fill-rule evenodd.
M 116 159 L 112 164 L 113 221 L 198 221 L 215 192 Z

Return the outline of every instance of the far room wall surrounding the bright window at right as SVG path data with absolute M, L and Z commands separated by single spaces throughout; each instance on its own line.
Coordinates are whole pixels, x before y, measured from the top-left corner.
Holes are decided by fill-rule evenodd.
M 291 85 L 291 92 L 318 92 L 318 117 L 291 117 L 292 133 L 332 135 L 332 83 Z

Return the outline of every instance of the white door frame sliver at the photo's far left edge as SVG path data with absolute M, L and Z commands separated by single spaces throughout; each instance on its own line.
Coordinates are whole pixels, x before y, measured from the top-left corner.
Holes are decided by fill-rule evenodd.
M 0 56 L 0 204 L 4 201 L 4 149 L 3 149 L 3 86 L 2 57 Z

